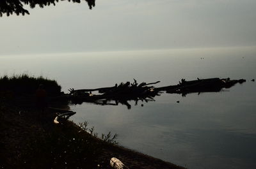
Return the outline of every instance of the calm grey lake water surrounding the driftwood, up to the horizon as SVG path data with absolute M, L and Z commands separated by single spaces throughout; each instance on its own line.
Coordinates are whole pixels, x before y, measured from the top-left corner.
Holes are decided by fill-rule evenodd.
M 3 55 L 0 75 L 28 73 L 68 88 L 110 87 L 120 82 L 175 85 L 181 78 L 245 78 L 221 92 L 161 94 L 156 101 L 100 106 L 70 105 L 70 119 L 97 133 L 118 133 L 124 147 L 187 168 L 256 168 L 256 47 Z M 177 103 L 180 101 L 180 103 Z M 143 104 L 143 107 L 141 107 Z

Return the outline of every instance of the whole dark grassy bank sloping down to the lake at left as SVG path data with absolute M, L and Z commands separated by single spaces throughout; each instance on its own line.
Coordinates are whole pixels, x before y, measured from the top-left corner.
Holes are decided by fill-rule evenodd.
M 42 84 L 47 92 L 44 108 L 36 99 Z M 63 118 L 61 114 L 71 111 L 68 101 L 56 99 L 63 92 L 54 80 L 5 76 L 0 85 L 1 168 L 111 168 L 114 157 L 129 168 L 182 168 L 120 147 L 116 135 L 100 137 L 87 122 L 77 126 Z

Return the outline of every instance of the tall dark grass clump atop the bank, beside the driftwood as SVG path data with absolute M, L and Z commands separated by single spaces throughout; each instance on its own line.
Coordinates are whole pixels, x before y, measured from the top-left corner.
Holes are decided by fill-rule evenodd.
M 61 93 L 61 86 L 58 85 L 56 80 L 22 74 L 0 77 L 0 94 L 9 97 L 12 97 L 12 95 L 35 94 L 40 84 L 44 85 L 49 96 L 58 96 Z

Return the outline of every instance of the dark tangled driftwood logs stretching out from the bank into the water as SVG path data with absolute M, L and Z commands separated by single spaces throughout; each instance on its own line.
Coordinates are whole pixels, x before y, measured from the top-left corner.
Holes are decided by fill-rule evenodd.
M 141 84 L 134 82 L 115 84 L 113 87 L 101 87 L 97 89 L 69 89 L 70 94 L 63 96 L 65 99 L 71 100 L 72 103 L 80 104 L 83 102 L 90 102 L 96 105 L 126 105 L 131 108 L 128 101 L 134 100 L 135 105 L 138 101 L 154 101 L 155 96 L 160 96 L 161 92 L 176 93 L 186 96 L 192 92 L 220 92 L 223 88 L 230 88 L 237 83 L 243 83 L 246 80 L 230 80 L 230 78 L 205 78 L 197 80 L 186 81 L 182 79 L 177 85 L 168 85 L 164 87 L 150 86 L 158 84 L 160 81 Z M 93 91 L 98 91 L 99 94 L 92 94 Z M 112 102 L 111 102 L 112 101 Z M 115 103 L 113 103 L 115 101 Z M 141 105 L 143 106 L 143 105 Z

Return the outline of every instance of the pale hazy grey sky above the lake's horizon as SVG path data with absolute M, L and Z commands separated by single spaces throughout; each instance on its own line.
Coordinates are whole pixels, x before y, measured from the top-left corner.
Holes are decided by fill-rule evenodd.
M 61 1 L 0 18 L 0 55 L 256 45 L 255 0 Z

